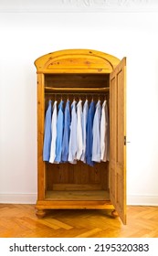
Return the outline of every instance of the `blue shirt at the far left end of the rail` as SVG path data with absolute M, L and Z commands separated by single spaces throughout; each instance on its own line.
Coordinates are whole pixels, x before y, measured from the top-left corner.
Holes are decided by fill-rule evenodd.
M 48 101 L 48 107 L 45 117 L 45 134 L 43 145 L 43 161 L 49 161 L 50 146 L 51 146 L 51 115 L 52 115 L 52 101 Z

